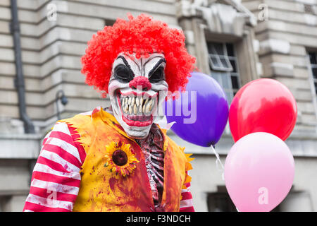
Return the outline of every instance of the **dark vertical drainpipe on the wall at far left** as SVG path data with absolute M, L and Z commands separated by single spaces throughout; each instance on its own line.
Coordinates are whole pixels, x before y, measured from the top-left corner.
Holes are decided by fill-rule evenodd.
M 21 45 L 20 45 L 20 25 L 18 21 L 18 6 L 16 0 L 11 0 L 11 33 L 13 34 L 14 42 L 14 57 L 15 57 L 15 88 L 18 90 L 18 102 L 20 119 L 24 123 L 25 133 L 35 133 L 34 125 L 31 119 L 27 116 L 25 105 L 25 82 L 22 69 Z

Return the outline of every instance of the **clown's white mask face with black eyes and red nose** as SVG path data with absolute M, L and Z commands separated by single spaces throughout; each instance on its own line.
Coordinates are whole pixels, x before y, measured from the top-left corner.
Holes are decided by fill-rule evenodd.
M 113 115 L 132 138 L 144 138 L 158 115 L 168 84 L 163 54 L 133 59 L 123 53 L 113 62 L 108 92 Z

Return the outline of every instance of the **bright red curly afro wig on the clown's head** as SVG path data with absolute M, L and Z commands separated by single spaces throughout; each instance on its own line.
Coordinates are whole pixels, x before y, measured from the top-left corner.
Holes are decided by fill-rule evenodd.
M 166 23 L 141 14 L 129 20 L 118 18 L 113 26 L 105 26 L 88 42 L 82 57 L 82 73 L 86 83 L 108 93 L 113 61 L 120 52 L 135 53 L 135 57 L 149 57 L 154 52 L 166 58 L 166 82 L 170 92 L 185 90 L 195 58 L 185 48 L 185 35 L 178 29 L 168 28 Z

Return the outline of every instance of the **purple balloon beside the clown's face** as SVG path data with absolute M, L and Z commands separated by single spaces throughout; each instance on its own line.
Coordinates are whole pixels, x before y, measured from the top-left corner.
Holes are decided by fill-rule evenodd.
M 229 109 L 225 93 L 211 76 L 192 73 L 186 92 L 180 93 L 177 100 L 169 99 L 164 103 L 166 119 L 168 123 L 176 122 L 171 129 L 180 138 L 204 147 L 219 141 Z

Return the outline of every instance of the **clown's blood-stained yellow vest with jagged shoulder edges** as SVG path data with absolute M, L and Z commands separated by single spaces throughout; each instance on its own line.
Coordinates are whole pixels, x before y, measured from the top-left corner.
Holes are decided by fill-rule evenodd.
M 94 110 L 91 115 L 77 114 L 71 119 L 61 121 L 76 129 L 80 135 L 78 141 L 87 155 L 80 170 L 80 191 L 73 211 L 154 210 L 142 150 L 134 139 L 127 136 L 115 117 L 100 108 Z M 161 206 L 164 206 L 166 211 L 178 211 L 181 190 L 186 189 L 185 183 L 191 180 L 187 171 L 192 169 L 189 163 L 192 159 L 189 158 L 189 154 L 184 153 L 184 148 L 180 148 L 166 136 L 165 130 L 161 131 L 164 142 Z M 113 145 L 114 143 L 120 143 L 122 146 Z M 127 153 L 128 161 L 129 158 L 131 160 L 129 168 L 129 162 L 127 165 L 117 166 L 119 171 L 113 164 L 109 164 L 109 157 L 106 157 L 107 148 L 116 147 L 123 147 L 121 149 Z

